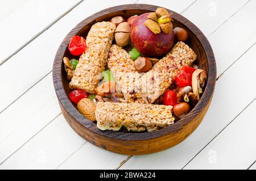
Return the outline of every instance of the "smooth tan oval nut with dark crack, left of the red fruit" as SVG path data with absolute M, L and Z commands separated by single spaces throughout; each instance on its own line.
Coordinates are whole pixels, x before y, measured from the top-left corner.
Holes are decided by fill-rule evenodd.
M 120 23 L 115 29 L 115 43 L 123 47 L 130 43 L 131 27 L 127 22 Z

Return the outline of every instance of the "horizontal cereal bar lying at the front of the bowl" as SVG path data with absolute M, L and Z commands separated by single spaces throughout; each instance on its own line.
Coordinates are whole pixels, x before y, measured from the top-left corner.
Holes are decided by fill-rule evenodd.
M 101 130 L 155 131 L 174 124 L 172 106 L 140 103 L 98 102 L 97 127 Z

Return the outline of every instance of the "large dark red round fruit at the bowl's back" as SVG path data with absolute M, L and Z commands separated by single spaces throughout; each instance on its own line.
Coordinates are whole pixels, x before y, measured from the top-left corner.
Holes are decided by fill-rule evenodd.
M 168 53 L 174 43 L 174 31 L 154 34 L 145 25 L 148 13 L 136 18 L 131 26 L 131 42 L 146 57 L 160 57 Z

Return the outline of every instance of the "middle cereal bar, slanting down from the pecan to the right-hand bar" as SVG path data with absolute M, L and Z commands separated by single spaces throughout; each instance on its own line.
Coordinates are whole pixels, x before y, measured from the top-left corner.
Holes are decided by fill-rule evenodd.
M 127 102 L 134 102 L 134 83 L 141 77 L 141 74 L 136 71 L 129 53 L 118 45 L 112 45 L 107 65 Z

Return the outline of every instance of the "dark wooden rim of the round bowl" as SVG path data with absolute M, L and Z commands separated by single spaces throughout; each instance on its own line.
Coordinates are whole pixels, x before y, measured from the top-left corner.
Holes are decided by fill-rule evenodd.
M 205 87 L 203 95 L 199 100 L 199 103 L 196 104 L 196 106 L 193 108 L 191 112 L 188 113 L 187 116 L 183 117 L 183 119 L 180 119 L 175 124 L 170 125 L 169 127 L 162 128 L 154 132 L 130 133 L 130 132 L 101 131 L 100 129 L 97 128 L 95 123 L 92 123 L 92 121 L 82 116 L 81 113 L 77 110 L 77 108 L 72 104 L 71 100 L 69 100 L 68 95 L 65 93 L 65 90 L 64 90 L 61 69 L 63 68 L 62 58 L 64 56 L 65 50 L 68 46 L 68 43 L 71 37 L 75 36 L 81 30 L 82 27 L 86 26 L 86 24 L 89 24 L 92 21 L 97 22 L 98 18 L 109 14 L 109 12 L 126 11 L 126 10 L 155 11 L 157 7 L 159 6 L 146 5 L 146 4 L 129 4 L 129 5 L 109 7 L 108 9 L 99 11 L 96 14 L 89 16 L 88 18 L 82 20 L 79 24 L 77 24 L 77 26 L 68 33 L 68 35 L 65 37 L 65 39 L 61 43 L 59 49 L 57 50 L 55 60 L 53 63 L 53 85 L 55 87 L 55 91 L 56 91 L 57 98 L 59 99 L 59 103 L 62 104 L 63 107 L 68 111 L 69 116 L 72 116 L 80 124 L 84 125 L 86 129 L 90 129 L 90 131 L 93 131 L 99 136 L 104 136 L 104 137 L 113 138 L 113 139 L 122 140 L 122 141 L 142 141 L 142 140 L 150 140 L 152 138 L 166 136 L 166 134 L 170 134 L 173 132 L 179 132 L 180 128 L 190 123 L 193 119 L 195 119 L 196 116 L 198 116 L 198 114 L 203 110 L 203 108 L 207 105 L 207 103 L 210 101 L 210 98 L 212 97 L 215 83 L 216 83 L 216 61 L 214 58 L 213 50 L 210 47 L 209 41 L 204 36 L 204 34 L 199 30 L 199 28 L 195 26 L 195 24 L 190 22 L 188 19 L 184 18 L 184 16 L 177 14 L 177 12 L 167 9 L 168 11 L 174 12 L 173 18 L 178 22 L 182 23 L 189 30 L 191 30 L 191 32 L 200 41 L 203 49 L 204 50 L 207 49 L 207 51 L 205 50 L 205 54 L 207 55 L 208 70 L 209 70 L 207 85 Z

